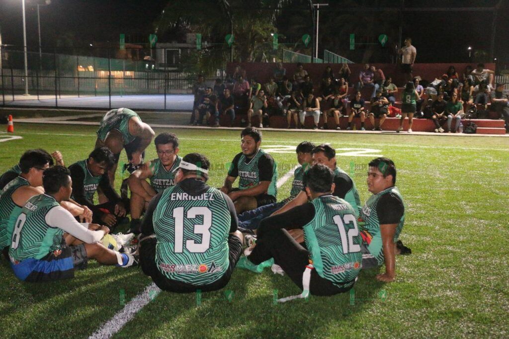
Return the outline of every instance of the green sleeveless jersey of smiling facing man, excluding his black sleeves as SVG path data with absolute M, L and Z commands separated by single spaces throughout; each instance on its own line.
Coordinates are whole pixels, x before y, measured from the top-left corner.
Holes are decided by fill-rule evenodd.
M 239 168 L 239 189 L 246 189 L 256 186 L 260 183 L 260 171 L 258 169 L 258 161 L 265 154 L 265 151 L 260 149 L 251 159 L 247 159 L 244 154 L 239 158 L 237 163 Z M 248 160 L 248 163 L 246 163 Z M 277 166 L 274 161 L 272 167 L 272 180 L 270 181 L 267 194 L 277 196 Z

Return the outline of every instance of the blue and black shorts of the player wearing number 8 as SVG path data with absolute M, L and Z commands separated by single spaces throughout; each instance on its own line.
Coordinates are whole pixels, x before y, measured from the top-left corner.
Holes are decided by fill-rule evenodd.
M 42 259 L 25 259 L 11 267 L 17 278 L 30 283 L 70 279 L 74 271 L 87 267 L 88 257 L 84 244 L 62 245 L 58 251 L 48 253 Z

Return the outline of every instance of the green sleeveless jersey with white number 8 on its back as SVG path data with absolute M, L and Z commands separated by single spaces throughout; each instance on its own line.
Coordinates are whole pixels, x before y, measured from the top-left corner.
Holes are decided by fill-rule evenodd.
M 46 223 L 46 214 L 57 206 L 60 204 L 47 194 L 33 196 L 26 202 L 14 224 L 9 250 L 13 262 L 29 258 L 42 259 L 61 248 L 64 230 Z

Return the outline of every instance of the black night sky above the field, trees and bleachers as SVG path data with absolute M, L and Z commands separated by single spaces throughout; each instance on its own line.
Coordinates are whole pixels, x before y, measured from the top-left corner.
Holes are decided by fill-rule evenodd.
M 37 11 L 27 1 L 27 45 L 37 50 Z M 211 0 L 214 1 L 215 0 Z M 329 0 L 332 3 L 334 0 Z M 74 37 L 76 45 L 118 42 L 119 34 L 142 37 L 153 33 L 153 22 L 160 15 L 168 0 L 52 0 L 41 6 L 42 45 L 52 47 L 57 37 Z M 322 1 L 327 2 L 327 1 Z M 478 6 L 491 7 L 496 0 L 410 1 L 407 7 Z M 509 7 L 505 2 L 497 21 L 495 56 L 499 62 L 509 64 Z M 321 15 L 334 15 L 323 13 Z M 420 12 L 405 16 L 404 36 L 412 37 L 417 48 L 417 62 L 468 61 L 466 48 L 484 49 L 489 52 L 492 13 L 490 12 Z M 21 0 L 0 0 L 0 29 L 4 44 L 22 46 Z M 310 33 L 310 32 L 309 32 Z M 346 37 L 347 39 L 347 37 Z M 165 42 L 159 37 L 158 42 Z M 360 51 L 359 51 L 360 52 Z M 354 61 L 360 56 L 351 55 Z

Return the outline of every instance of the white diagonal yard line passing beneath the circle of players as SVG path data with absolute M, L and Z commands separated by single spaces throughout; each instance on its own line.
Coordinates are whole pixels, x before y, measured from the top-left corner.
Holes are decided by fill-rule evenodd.
M 292 170 L 282 176 L 276 183 L 277 188 L 280 188 L 282 185 L 284 185 L 288 179 L 293 176 L 294 171 L 298 167 L 299 165 L 293 167 Z M 134 318 L 140 309 L 152 301 L 159 294 L 159 292 L 161 292 L 161 290 L 154 283 L 147 286 L 145 291 L 135 296 L 124 306 L 123 309 L 117 312 L 113 318 L 102 324 L 102 326 L 97 331 L 89 336 L 89 339 L 105 339 L 112 337 L 115 333 L 120 331 L 125 324 Z

